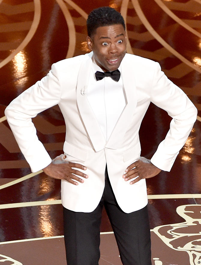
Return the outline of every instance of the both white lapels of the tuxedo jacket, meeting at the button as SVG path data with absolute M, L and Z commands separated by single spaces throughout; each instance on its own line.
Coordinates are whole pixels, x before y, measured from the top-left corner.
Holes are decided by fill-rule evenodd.
M 119 139 L 124 137 L 129 125 L 129 121 L 131 121 L 137 105 L 134 70 L 133 67 L 128 67 L 129 61 L 125 55 L 121 63 L 121 75 L 125 89 L 126 106 L 123 109 L 122 114 L 120 115 L 113 132 L 106 143 L 98 121 L 87 100 L 87 86 L 92 66 L 92 56 L 92 52 L 86 55 L 86 59 L 83 61 L 79 69 L 76 87 L 77 106 L 95 151 L 98 152 L 104 147 L 117 149 L 119 147 Z

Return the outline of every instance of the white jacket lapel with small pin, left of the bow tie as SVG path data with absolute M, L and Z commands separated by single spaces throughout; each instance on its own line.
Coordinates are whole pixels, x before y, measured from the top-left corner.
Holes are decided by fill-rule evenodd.
M 78 73 L 76 100 L 85 129 L 95 151 L 98 152 L 105 147 L 106 140 L 87 100 L 87 86 L 92 66 L 91 57 L 93 56 L 93 53 L 86 56 L 87 58 L 83 61 Z

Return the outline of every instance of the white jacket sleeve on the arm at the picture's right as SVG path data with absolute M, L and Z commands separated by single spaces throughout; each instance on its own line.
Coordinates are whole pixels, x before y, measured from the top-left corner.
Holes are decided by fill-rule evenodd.
M 170 171 L 185 144 L 193 124 L 196 121 L 197 109 L 187 95 L 161 71 L 156 64 L 151 91 L 151 101 L 167 111 L 173 119 L 165 139 L 159 144 L 151 162 L 164 171 Z

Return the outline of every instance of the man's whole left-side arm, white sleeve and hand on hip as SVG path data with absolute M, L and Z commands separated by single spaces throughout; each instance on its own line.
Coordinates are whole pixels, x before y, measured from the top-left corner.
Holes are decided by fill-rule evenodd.
M 59 103 L 60 97 L 61 87 L 56 67 L 53 64 L 47 76 L 24 91 L 7 106 L 5 115 L 32 172 L 43 168 L 50 177 L 65 179 L 77 185 L 78 183 L 72 179 L 80 183 L 83 183 L 83 180 L 74 174 L 84 178 L 88 176 L 72 167 L 86 170 L 85 167 L 77 163 L 68 163 L 64 160 L 64 155 L 62 158 L 58 157 L 52 161 L 44 145 L 39 141 L 32 122 L 32 118 L 38 113 Z M 62 163 L 58 163 L 58 161 Z

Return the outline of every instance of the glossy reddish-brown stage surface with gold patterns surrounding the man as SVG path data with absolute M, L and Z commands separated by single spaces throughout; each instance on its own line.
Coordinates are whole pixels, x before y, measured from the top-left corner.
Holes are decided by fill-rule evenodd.
M 171 172 L 148 179 L 147 191 L 152 264 L 201 264 L 201 2 L 0 0 L 0 261 L 8 265 L 66 262 L 60 181 L 42 171 L 30 174 L 4 109 L 45 76 L 52 63 L 88 52 L 87 15 L 105 5 L 125 18 L 128 52 L 158 61 L 198 109 L 197 121 Z M 143 156 L 152 157 L 170 120 L 166 112 L 150 105 L 140 129 Z M 50 156 L 59 155 L 65 126 L 58 106 L 33 121 Z M 110 231 L 103 211 L 101 232 Z M 113 234 L 101 234 L 100 264 L 121 264 Z

